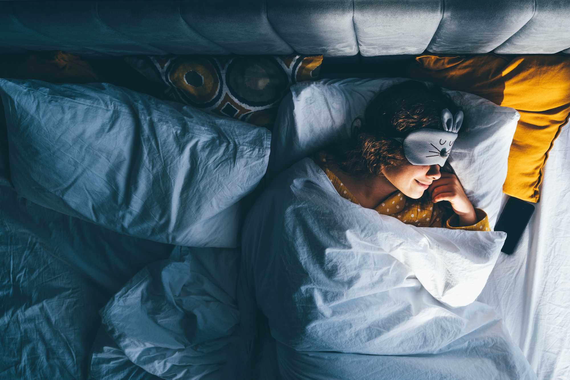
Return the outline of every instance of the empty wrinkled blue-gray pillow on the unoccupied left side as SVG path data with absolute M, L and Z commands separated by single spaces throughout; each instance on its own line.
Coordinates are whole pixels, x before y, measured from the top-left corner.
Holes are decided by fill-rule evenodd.
M 0 96 L 22 197 L 126 235 L 238 246 L 267 129 L 108 83 L 0 79 Z

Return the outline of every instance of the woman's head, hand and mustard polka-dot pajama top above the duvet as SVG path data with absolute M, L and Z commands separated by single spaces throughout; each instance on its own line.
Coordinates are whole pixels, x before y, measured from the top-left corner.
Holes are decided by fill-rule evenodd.
M 457 176 L 440 171 L 453 142 L 434 138 L 427 154 L 420 153 L 427 156 L 424 165 L 406 160 L 402 137 L 422 128 L 445 130 L 443 109 L 451 110 L 448 117 L 462 116 L 439 87 L 418 81 L 393 85 L 368 104 L 352 140 L 329 146 L 314 160 L 341 197 L 367 209 L 418 227 L 488 231 L 487 214 L 471 205 Z

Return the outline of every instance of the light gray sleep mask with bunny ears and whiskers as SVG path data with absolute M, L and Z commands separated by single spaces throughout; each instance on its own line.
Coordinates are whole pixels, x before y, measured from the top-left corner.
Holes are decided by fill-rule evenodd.
M 445 108 L 441 111 L 441 121 L 445 130 L 422 128 L 410 132 L 405 138 L 394 138 L 402 141 L 404 155 L 410 164 L 445 164 L 463 123 L 463 111 L 457 111 L 453 116 L 449 109 Z

